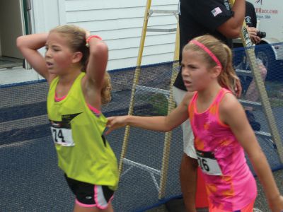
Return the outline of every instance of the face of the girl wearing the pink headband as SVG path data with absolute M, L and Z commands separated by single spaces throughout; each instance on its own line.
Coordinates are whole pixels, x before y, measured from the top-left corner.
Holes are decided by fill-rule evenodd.
M 182 76 L 188 91 L 200 91 L 212 81 L 212 73 L 200 52 L 185 50 L 182 54 Z

